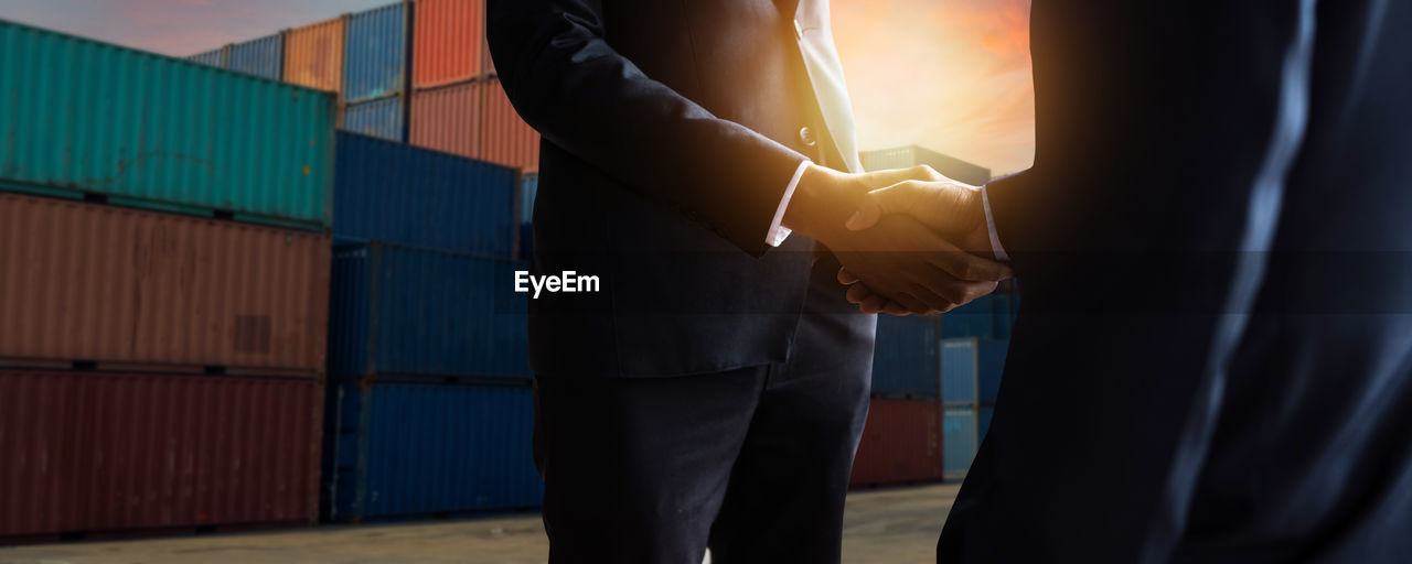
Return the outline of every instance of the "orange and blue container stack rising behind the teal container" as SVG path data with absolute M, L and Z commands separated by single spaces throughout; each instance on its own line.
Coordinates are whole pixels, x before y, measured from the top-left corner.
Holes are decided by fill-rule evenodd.
M 402 0 L 191 59 L 333 92 L 347 131 L 539 169 L 539 134 L 490 61 L 483 0 Z

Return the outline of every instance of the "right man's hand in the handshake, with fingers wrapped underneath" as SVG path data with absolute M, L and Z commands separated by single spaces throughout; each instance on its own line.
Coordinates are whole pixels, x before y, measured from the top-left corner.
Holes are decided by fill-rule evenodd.
M 860 200 L 858 210 L 849 217 L 847 227 L 866 230 L 892 213 L 909 214 L 936 233 L 956 241 L 960 248 L 994 258 L 980 189 L 976 186 L 942 176 L 932 180 L 904 180 L 894 186 L 871 190 Z M 911 305 L 890 299 L 891 295 L 887 290 L 874 289 L 870 282 L 851 272 L 847 264 L 839 271 L 839 283 L 849 286 L 849 302 L 858 305 L 858 309 L 866 313 L 915 313 L 915 307 Z M 979 296 L 971 299 L 974 298 Z

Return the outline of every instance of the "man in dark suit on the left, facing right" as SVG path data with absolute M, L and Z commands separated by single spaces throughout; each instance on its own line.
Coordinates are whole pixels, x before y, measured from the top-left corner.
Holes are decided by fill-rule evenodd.
M 1005 268 L 911 219 L 843 228 L 866 190 L 932 172 L 861 173 L 825 0 L 487 13 L 544 135 L 535 275 L 602 285 L 531 300 L 551 560 L 839 561 L 875 320 L 816 241 L 925 309 Z

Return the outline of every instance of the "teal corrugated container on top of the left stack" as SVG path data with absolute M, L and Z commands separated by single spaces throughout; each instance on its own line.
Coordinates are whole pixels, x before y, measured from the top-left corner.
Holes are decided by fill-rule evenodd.
M 6 21 L 0 45 L 8 188 L 330 223 L 329 96 Z

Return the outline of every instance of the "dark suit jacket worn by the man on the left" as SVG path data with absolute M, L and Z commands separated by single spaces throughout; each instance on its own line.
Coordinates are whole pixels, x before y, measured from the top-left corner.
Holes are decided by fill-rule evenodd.
M 541 375 L 784 361 L 815 244 L 767 248 L 810 158 L 861 171 L 825 0 L 491 0 L 496 69 L 542 134 L 534 271 L 599 293 L 530 305 Z M 844 312 L 840 296 L 827 305 Z M 827 309 L 826 309 L 827 310 Z M 860 351 L 873 320 L 853 316 Z

